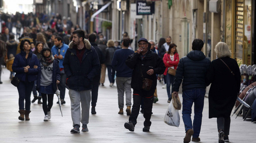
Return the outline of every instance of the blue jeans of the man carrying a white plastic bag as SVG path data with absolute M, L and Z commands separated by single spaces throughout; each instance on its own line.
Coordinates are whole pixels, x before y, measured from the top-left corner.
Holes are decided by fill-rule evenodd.
M 193 129 L 194 138 L 198 138 L 202 124 L 202 112 L 204 107 L 205 88 L 185 90 L 182 93 L 182 119 L 185 124 L 185 131 Z M 191 112 L 194 102 L 194 121 L 192 126 Z

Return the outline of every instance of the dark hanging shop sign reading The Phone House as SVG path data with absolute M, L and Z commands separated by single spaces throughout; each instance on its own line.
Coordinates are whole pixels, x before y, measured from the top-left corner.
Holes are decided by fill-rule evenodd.
M 136 1 L 137 15 L 152 15 L 155 13 L 155 2 Z

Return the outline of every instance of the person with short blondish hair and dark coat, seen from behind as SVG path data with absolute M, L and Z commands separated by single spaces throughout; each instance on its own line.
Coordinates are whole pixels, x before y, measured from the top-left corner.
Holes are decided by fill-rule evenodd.
M 108 68 L 108 79 L 110 82 L 109 86 L 113 86 L 115 83 L 114 77 L 115 77 L 115 68 L 112 66 L 112 59 L 115 53 L 115 42 L 113 40 L 108 40 L 107 42 L 107 48 L 106 48 L 106 59 L 105 64 Z

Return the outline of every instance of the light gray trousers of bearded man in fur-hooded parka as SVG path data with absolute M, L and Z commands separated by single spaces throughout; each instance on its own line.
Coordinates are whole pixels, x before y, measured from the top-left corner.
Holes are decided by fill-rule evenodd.
M 69 89 L 69 97 L 71 101 L 71 117 L 74 125 L 89 123 L 91 90 L 76 91 Z M 82 116 L 80 110 L 80 102 L 82 107 Z M 82 117 L 82 118 L 81 118 Z

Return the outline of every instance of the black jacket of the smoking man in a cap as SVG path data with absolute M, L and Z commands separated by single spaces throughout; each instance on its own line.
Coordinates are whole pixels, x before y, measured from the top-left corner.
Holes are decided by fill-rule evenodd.
M 152 79 L 153 84 L 151 90 L 156 89 L 156 74 L 163 74 L 165 70 L 163 60 L 154 52 L 148 49 L 146 57 L 141 60 L 141 55 L 138 53 L 133 53 L 129 55 L 125 64 L 133 69 L 132 79 L 131 79 L 131 88 L 135 90 L 141 90 L 142 87 L 142 77 L 141 71 L 144 78 Z M 141 66 L 140 66 L 141 65 Z M 154 70 L 154 74 L 148 75 L 146 72 L 150 69 Z

